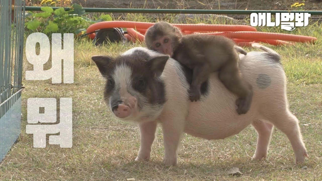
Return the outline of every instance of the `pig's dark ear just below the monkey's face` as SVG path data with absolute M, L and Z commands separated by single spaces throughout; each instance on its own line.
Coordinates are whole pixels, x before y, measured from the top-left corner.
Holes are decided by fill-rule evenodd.
M 147 61 L 147 64 L 154 76 L 158 77 L 162 74 L 164 67 L 166 66 L 166 61 L 169 59 L 169 56 L 157 56 L 152 57 Z

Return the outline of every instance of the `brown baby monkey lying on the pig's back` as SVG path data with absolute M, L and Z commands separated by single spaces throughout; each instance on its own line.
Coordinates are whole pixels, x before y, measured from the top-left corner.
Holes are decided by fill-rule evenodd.
M 200 87 L 211 72 L 218 71 L 225 87 L 238 96 L 237 113 L 245 114 L 251 106 L 253 89 L 241 76 L 238 52 L 247 54 L 241 47 L 224 36 L 207 34 L 182 35 L 167 22 L 158 22 L 147 29 L 147 48 L 170 55 L 193 70 L 189 96 L 191 101 L 200 99 Z

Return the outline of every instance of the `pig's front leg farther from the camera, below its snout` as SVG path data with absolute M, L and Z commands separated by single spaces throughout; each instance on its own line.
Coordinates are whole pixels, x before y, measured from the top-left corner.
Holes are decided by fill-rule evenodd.
M 139 123 L 138 126 L 140 129 L 140 149 L 135 161 L 149 160 L 151 146 L 156 133 L 156 121 Z

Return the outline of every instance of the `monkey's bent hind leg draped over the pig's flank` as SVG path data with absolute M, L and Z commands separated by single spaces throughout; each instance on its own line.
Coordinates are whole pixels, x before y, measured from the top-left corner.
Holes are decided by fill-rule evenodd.
M 234 61 L 227 62 L 219 70 L 219 79 L 228 90 L 238 96 L 236 100 L 236 105 L 238 106 L 237 113 L 245 114 L 248 112 L 253 98 L 253 89 L 251 84 L 242 78 L 238 69 L 238 63 Z

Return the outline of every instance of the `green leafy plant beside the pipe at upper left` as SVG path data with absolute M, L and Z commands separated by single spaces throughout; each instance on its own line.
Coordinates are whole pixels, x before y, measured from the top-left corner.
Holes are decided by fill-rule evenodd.
M 49 33 L 75 33 L 81 35 L 90 24 L 101 21 L 111 21 L 109 14 L 94 16 L 95 20 L 86 17 L 85 10 L 81 5 L 73 4 L 69 11 L 58 8 L 55 11 L 52 7 L 41 7 L 43 12 L 26 14 L 25 27 L 33 32 Z

